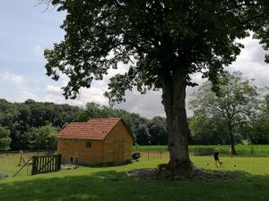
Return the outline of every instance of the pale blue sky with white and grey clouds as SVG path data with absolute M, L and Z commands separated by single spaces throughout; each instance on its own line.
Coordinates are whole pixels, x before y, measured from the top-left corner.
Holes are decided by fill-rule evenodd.
M 33 99 L 42 102 L 85 106 L 95 102 L 108 105 L 103 93 L 108 88 L 108 80 L 117 72 L 125 72 L 127 66 L 119 64 L 118 70 L 109 70 L 102 81 L 95 81 L 90 89 L 82 88 L 76 100 L 65 100 L 62 87 L 68 81 L 65 76 L 55 81 L 46 75 L 43 52 L 60 42 L 65 32 L 60 29 L 65 13 L 55 9 L 46 10 L 39 0 L 1 0 L 0 1 L 0 98 L 11 102 L 23 102 Z M 46 10 L 46 11 L 45 11 Z M 245 38 L 241 40 L 245 48 L 237 61 L 228 71 L 242 71 L 243 76 L 255 79 L 258 87 L 269 87 L 269 64 L 265 61 L 265 51 L 258 40 Z M 201 84 L 200 74 L 192 76 Z M 187 101 L 192 98 L 197 88 L 187 88 Z M 126 102 L 115 105 L 131 113 L 144 117 L 165 116 L 161 105 L 161 91 L 150 91 L 140 95 L 136 91 L 126 93 Z M 187 108 L 187 115 L 192 112 Z

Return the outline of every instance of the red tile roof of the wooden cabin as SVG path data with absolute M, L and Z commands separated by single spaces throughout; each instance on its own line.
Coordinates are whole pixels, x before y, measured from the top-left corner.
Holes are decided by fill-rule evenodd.
M 71 122 L 58 133 L 57 138 L 102 140 L 120 120 L 120 118 L 94 118 L 87 122 Z

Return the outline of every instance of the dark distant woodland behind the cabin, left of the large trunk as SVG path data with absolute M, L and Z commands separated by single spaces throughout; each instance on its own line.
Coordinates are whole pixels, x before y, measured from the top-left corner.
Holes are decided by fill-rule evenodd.
M 0 150 L 56 148 L 56 133 L 71 121 L 120 117 L 126 121 L 138 145 L 167 145 L 165 118 L 152 120 L 109 106 L 89 103 L 85 108 L 27 100 L 10 103 L 0 100 Z

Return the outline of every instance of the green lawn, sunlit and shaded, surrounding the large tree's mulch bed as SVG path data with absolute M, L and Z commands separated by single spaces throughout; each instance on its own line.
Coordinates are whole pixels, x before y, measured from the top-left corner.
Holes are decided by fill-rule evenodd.
M 14 158 L 10 156 L 10 161 Z M 18 157 L 17 157 L 18 158 Z M 8 158 L 0 156 L 0 172 Z M 157 181 L 128 178 L 126 172 L 137 168 L 156 167 L 168 161 L 167 155 L 150 157 L 139 162 L 115 167 L 80 167 L 76 170 L 52 172 L 35 176 L 0 180 L 2 201 L 247 201 L 269 200 L 269 157 L 221 157 L 223 166 L 216 168 L 213 157 L 192 156 L 192 161 L 205 169 L 237 172 L 237 179 L 229 181 Z M 16 164 L 16 163 L 14 163 Z M 236 165 L 236 166 L 234 166 Z M 5 169 L 4 169 L 4 168 Z M 18 167 L 13 167 L 16 170 Z M 10 171 L 12 172 L 12 171 Z

